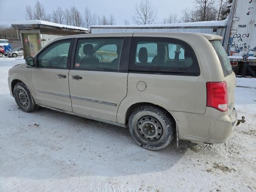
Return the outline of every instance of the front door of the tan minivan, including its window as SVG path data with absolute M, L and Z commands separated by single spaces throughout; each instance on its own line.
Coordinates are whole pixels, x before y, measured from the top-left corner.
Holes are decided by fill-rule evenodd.
M 31 78 L 39 104 L 72 111 L 68 85 L 72 41 L 54 42 L 37 55 Z

